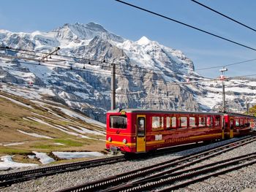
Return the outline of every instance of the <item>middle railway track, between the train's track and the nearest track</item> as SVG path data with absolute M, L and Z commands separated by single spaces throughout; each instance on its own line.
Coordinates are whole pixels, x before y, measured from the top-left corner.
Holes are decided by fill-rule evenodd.
M 113 177 L 108 177 L 102 180 L 96 180 L 91 183 L 84 183 L 82 185 L 77 185 L 75 187 L 71 188 L 66 188 L 61 190 L 60 192 L 66 192 L 66 191 L 98 191 L 104 189 L 104 191 L 111 191 L 112 188 L 108 189 L 110 186 L 114 185 L 122 185 L 122 183 L 126 183 L 129 180 L 134 180 L 135 178 L 138 177 L 145 177 L 145 175 L 151 174 L 152 172 L 157 172 L 161 171 L 166 168 L 170 168 L 171 166 L 178 166 L 182 162 L 187 162 L 187 161 L 192 161 L 197 163 L 197 158 L 201 158 L 200 161 L 203 161 L 204 158 L 203 156 L 208 155 L 207 158 L 209 158 L 209 155 L 214 156 L 220 153 L 224 153 L 228 150 L 232 150 L 236 147 L 240 147 L 241 145 L 246 145 L 249 142 L 254 142 L 256 141 L 256 137 L 246 137 L 245 139 L 240 139 L 236 142 L 229 143 L 227 145 L 222 145 L 220 147 L 214 147 L 211 148 L 211 150 L 204 150 L 203 152 L 198 152 L 198 153 L 192 153 L 190 155 L 185 155 L 183 157 L 175 158 L 170 161 L 165 161 L 164 163 L 161 164 L 155 164 L 152 166 L 147 166 L 142 169 L 137 169 L 131 172 L 123 173 L 123 174 L 118 174 Z M 219 152 L 218 152 L 219 151 Z M 195 160 L 196 159 L 196 160 Z M 189 165 L 195 164 L 190 162 Z M 107 188 L 107 189 L 106 189 Z

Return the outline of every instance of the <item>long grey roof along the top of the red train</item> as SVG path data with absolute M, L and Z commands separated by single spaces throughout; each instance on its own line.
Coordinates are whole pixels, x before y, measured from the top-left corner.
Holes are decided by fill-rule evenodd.
M 244 118 L 256 118 L 255 116 L 252 115 L 244 115 L 240 113 L 235 113 L 235 112 L 185 112 L 185 111 L 171 111 L 171 110 L 144 110 L 144 109 L 116 109 L 116 110 L 110 110 L 108 112 L 136 112 L 136 113 L 173 113 L 173 114 L 190 114 L 194 113 L 197 115 L 234 115 L 234 116 L 240 116 Z

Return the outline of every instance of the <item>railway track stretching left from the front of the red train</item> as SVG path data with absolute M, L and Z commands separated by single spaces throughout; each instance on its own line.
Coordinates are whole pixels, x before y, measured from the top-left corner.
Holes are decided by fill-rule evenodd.
M 118 155 L 110 158 L 99 158 L 90 161 L 80 161 L 72 164 L 49 166 L 39 169 L 31 169 L 23 172 L 14 172 L 10 174 L 0 174 L 0 188 L 10 186 L 14 183 L 32 180 L 38 177 L 44 177 L 63 172 L 73 172 L 79 169 L 86 169 L 89 167 L 101 166 L 105 164 L 114 164 L 120 161 L 126 161 L 124 155 Z

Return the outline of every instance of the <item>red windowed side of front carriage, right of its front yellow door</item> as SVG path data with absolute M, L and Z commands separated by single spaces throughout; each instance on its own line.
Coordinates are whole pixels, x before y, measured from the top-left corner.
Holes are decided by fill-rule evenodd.
M 220 115 L 217 118 L 214 115 L 149 114 L 146 150 L 222 139 Z M 211 122 L 207 123 L 207 120 Z

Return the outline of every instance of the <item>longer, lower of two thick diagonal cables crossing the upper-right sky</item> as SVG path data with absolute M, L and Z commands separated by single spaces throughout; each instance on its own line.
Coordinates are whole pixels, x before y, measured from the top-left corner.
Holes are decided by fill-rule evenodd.
M 233 40 L 227 39 L 227 38 L 225 38 L 225 37 L 221 37 L 221 36 L 219 36 L 219 35 L 217 35 L 217 34 L 213 34 L 213 33 L 211 33 L 211 32 L 205 31 L 205 30 L 200 29 L 200 28 L 197 28 L 197 27 L 195 27 L 195 26 L 191 26 L 191 25 L 186 24 L 186 23 L 183 23 L 183 22 L 181 22 L 181 21 L 178 21 L 178 20 L 175 20 L 175 19 L 172 19 L 172 18 L 168 18 L 168 17 L 165 16 L 165 15 L 161 15 L 161 14 L 159 14 L 159 13 L 157 13 L 157 12 L 152 12 L 152 11 L 150 11 L 150 10 L 148 10 L 148 9 L 144 9 L 144 8 L 142 8 L 142 7 L 135 6 L 134 4 L 129 4 L 129 3 L 127 3 L 127 2 L 120 1 L 120 0 L 115 0 L 115 1 L 118 1 L 118 2 L 120 2 L 120 3 L 122 3 L 122 4 L 126 4 L 126 5 L 128 5 L 128 6 L 130 6 L 130 7 L 134 7 L 134 8 L 136 8 L 136 9 L 143 10 L 144 12 L 149 12 L 149 13 L 151 13 L 151 14 L 153 14 L 153 15 L 157 15 L 157 16 L 159 16 L 159 17 L 161 17 L 161 18 L 165 18 L 165 19 L 167 19 L 167 20 L 171 20 L 171 21 L 176 22 L 176 23 L 179 23 L 179 24 L 181 24 L 181 25 L 183 25 L 183 26 L 187 26 L 187 27 L 189 27 L 189 28 L 194 28 L 194 29 L 197 30 L 197 31 L 201 31 L 201 32 L 203 32 L 203 33 L 205 33 L 205 34 L 209 34 L 209 35 L 214 36 L 214 37 L 217 37 L 217 38 L 219 38 L 219 39 L 223 39 L 223 40 L 225 40 L 225 41 L 227 41 L 227 42 L 231 42 L 231 43 L 233 43 L 233 44 L 240 45 L 241 47 L 246 47 L 247 49 L 250 49 L 250 50 L 256 50 L 255 48 L 249 47 L 249 46 L 247 46 L 247 45 L 243 45 L 243 44 L 241 44 L 241 43 L 238 43 L 238 42 L 235 42 L 235 41 L 233 41 Z

